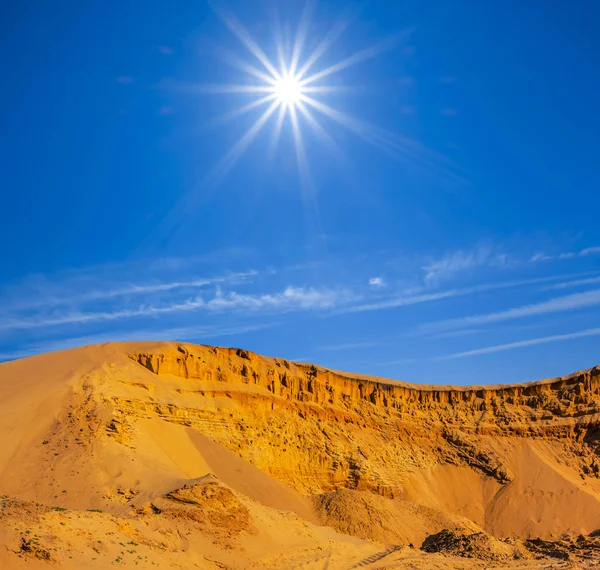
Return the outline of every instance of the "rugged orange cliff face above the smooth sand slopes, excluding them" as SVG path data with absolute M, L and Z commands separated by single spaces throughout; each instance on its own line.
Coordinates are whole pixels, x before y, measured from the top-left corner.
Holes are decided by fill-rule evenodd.
M 119 401 L 192 426 L 306 493 L 370 489 L 394 497 L 415 473 L 464 466 L 505 485 L 507 438 L 552 442 L 575 477 L 600 474 L 600 369 L 523 385 L 416 386 L 241 349 L 164 346 L 130 352 L 210 409 Z

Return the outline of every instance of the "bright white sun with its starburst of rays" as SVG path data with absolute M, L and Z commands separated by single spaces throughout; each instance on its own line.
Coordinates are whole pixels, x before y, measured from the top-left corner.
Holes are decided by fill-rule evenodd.
M 319 68 L 319 64 L 326 61 L 329 49 L 340 39 L 351 21 L 357 16 L 356 13 L 346 12 L 342 14 L 339 20 L 334 22 L 331 29 L 319 41 L 315 42 L 316 47 L 312 51 L 308 51 L 306 43 L 316 0 L 307 0 L 289 53 L 286 53 L 284 48 L 282 28 L 276 24 L 274 30 L 276 58 L 271 59 L 235 14 L 223 7 L 220 0 L 213 0 L 211 4 L 217 16 L 247 49 L 249 55 L 254 58 L 254 63 L 250 63 L 236 54 L 229 54 L 227 63 L 241 71 L 243 73 L 241 77 L 245 76 L 248 82 L 244 83 L 242 80 L 238 85 L 201 85 L 195 86 L 194 90 L 204 93 L 253 97 L 253 100 L 230 111 L 221 119 L 231 120 L 261 107 L 264 110 L 216 164 L 207 175 L 204 183 L 214 186 L 222 179 L 271 119 L 274 119 L 271 154 L 278 148 L 286 121 L 290 123 L 296 162 L 306 194 L 311 193 L 307 189 L 311 186 L 311 177 L 302 129 L 309 127 L 330 150 L 337 153 L 338 157 L 343 156 L 341 149 L 329 134 L 327 125 L 321 123 L 322 120 L 341 125 L 389 154 L 406 155 L 409 151 L 414 151 L 414 147 L 409 148 L 406 139 L 397 137 L 384 129 L 376 128 L 323 101 L 323 95 L 325 94 L 348 90 L 347 87 L 340 88 L 328 85 L 327 79 L 330 76 L 396 47 L 408 37 L 410 31 L 395 34 L 376 45 L 360 50 L 339 61 L 327 62 Z M 314 200 L 314 197 L 311 200 Z

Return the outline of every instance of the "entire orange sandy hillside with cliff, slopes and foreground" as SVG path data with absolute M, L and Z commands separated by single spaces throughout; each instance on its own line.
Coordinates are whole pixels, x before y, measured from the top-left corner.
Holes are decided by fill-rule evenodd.
M 5 363 L 0 568 L 593 567 L 599 425 L 597 368 L 422 386 L 175 343 Z

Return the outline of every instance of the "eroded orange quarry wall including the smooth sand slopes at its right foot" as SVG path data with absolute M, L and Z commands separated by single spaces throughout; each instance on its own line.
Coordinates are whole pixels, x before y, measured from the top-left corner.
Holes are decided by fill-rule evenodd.
M 468 516 L 499 536 L 600 527 L 598 368 L 439 387 L 241 349 L 178 345 L 128 356 L 205 402 L 155 401 L 146 412 L 194 427 L 302 493 L 370 490 Z M 118 408 L 132 414 L 140 404 Z

